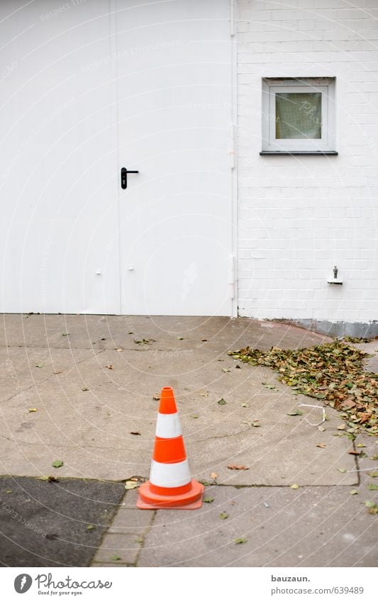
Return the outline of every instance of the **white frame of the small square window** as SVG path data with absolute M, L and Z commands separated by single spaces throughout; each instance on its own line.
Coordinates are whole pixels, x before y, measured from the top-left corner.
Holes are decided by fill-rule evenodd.
M 276 138 L 276 94 L 321 92 L 321 138 Z M 335 152 L 335 78 L 262 79 L 262 155 Z

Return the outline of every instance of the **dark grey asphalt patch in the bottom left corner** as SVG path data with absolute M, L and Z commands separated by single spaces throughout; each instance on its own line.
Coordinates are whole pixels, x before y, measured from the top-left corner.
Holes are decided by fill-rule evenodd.
M 118 483 L 0 477 L 1 566 L 89 566 L 123 493 Z

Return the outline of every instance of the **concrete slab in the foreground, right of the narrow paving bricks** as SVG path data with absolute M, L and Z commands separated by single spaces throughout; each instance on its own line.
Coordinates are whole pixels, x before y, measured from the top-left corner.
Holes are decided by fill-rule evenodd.
M 377 566 L 378 518 L 349 486 L 213 486 L 206 496 L 197 511 L 155 513 L 138 567 Z

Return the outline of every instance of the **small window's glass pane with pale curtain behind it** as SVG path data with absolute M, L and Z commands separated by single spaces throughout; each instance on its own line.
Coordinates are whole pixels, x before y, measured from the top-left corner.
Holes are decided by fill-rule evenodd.
M 321 92 L 276 94 L 276 138 L 321 138 Z

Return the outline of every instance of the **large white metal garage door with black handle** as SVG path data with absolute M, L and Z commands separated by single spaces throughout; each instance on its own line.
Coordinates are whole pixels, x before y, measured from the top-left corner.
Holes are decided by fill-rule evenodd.
M 0 4 L 2 311 L 231 315 L 228 0 L 53 4 Z

